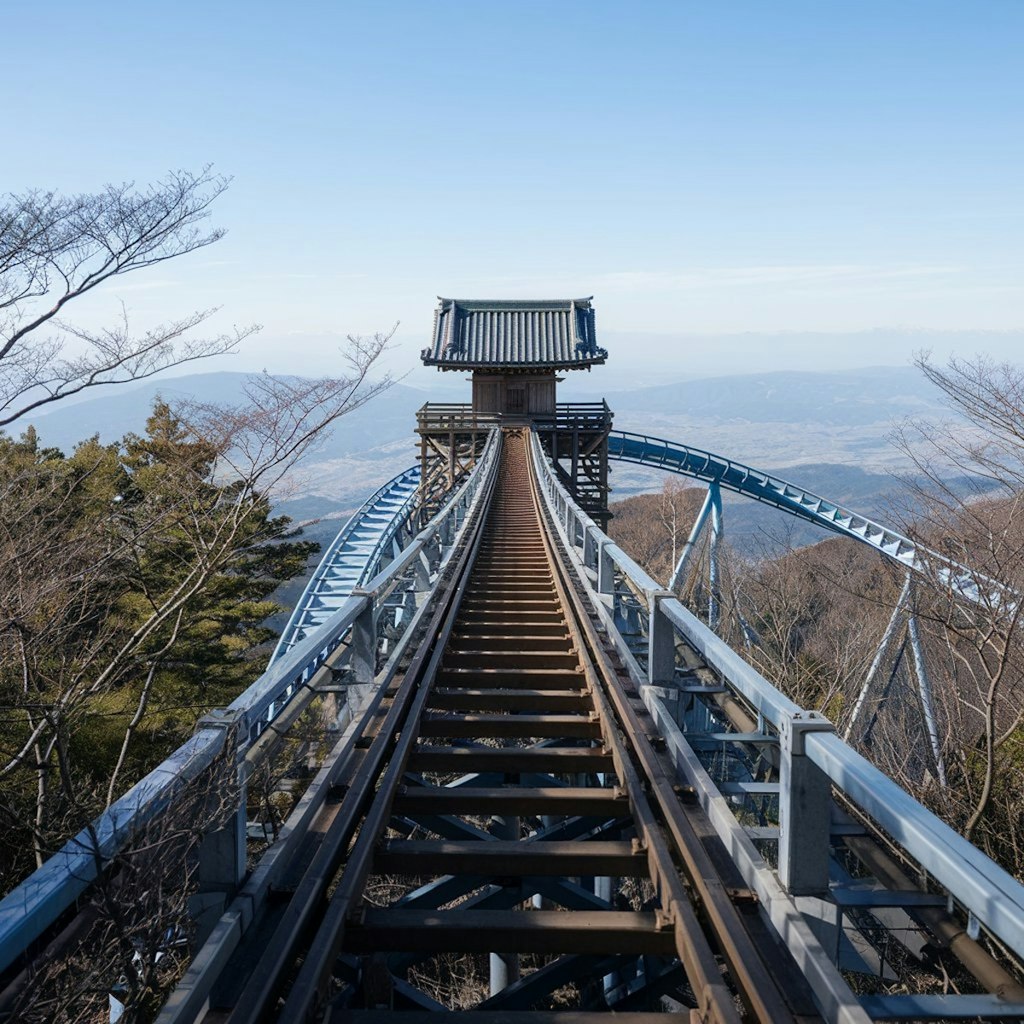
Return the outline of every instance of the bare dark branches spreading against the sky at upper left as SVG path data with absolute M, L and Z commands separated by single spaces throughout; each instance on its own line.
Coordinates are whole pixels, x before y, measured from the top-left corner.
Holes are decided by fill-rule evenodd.
M 112 279 L 221 239 L 223 230 L 205 222 L 227 184 L 205 168 L 141 188 L 128 182 L 0 200 L 0 427 L 86 388 L 229 351 L 256 330 L 197 337 L 215 309 L 141 330 L 124 310 L 99 330 L 70 318 L 78 300 Z

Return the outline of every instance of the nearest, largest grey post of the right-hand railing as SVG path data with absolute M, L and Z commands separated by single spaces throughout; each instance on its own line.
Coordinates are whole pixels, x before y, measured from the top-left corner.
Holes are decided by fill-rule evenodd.
M 831 781 L 807 757 L 809 732 L 835 732 L 813 711 L 786 715 L 779 723 L 778 874 L 793 896 L 810 896 L 828 888 L 831 833 Z

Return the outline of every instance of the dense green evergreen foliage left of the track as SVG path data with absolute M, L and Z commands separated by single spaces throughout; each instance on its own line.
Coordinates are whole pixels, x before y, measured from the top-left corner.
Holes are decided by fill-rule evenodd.
M 269 595 L 317 546 L 217 465 L 162 402 L 71 456 L 0 437 L 4 888 L 262 671 Z

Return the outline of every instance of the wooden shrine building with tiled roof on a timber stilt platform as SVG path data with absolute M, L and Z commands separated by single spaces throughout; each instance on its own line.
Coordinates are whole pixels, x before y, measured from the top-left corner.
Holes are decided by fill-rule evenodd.
M 425 515 L 472 468 L 496 425 L 532 426 L 581 508 L 608 519 L 605 402 L 559 403 L 569 370 L 607 358 L 597 346 L 591 299 L 438 299 L 428 367 L 471 374 L 471 404 L 424 406 L 418 415 Z

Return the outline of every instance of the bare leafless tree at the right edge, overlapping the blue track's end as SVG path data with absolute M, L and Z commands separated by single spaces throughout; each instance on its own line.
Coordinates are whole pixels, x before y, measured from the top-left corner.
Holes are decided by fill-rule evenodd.
M 1006 812 L 1024 814 L 1019 785 L 1016 808 L 996 807 L 1024 744 L 1024 370 L 984 357 L 918 365 L 959 419 L 899 431 L 915 470 L 904 480 L 914 506 L 904 526 L 922 546 L 931 587 L 921 613 L 942 649 L 943 696 L 961 733 L 957 823 L 995 852 Z

